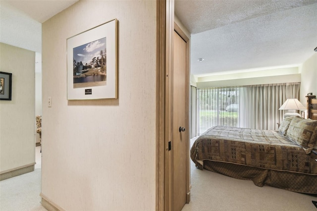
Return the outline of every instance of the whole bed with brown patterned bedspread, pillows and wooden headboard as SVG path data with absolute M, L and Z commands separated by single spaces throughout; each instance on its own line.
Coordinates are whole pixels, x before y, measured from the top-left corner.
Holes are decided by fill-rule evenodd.
M 317 99 L 307 96 L 308 119 L 288 116 L 278 130 L 214 126 L 191 148 L 207 169 L 289 191 L 317 194 Z

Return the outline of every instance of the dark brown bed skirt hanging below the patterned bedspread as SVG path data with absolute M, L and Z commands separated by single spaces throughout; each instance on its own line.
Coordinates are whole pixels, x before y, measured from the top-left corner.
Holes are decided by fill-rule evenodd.
M 305 173 L 264 169 L 234 163 L 204 160 L 204 168 L 236 179 L 252 180 L 255 185 L 288 191 L 317 194 L 317 176 Z M 198 166 L 201 168 L 202 166 Z

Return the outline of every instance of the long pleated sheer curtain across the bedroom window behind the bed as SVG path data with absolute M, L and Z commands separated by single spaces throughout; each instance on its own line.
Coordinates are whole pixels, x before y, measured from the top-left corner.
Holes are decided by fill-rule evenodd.
M 198 89 L 199 135 L 215 125 L 277 129 L 289 98 L 299 98 L 300 83 Z

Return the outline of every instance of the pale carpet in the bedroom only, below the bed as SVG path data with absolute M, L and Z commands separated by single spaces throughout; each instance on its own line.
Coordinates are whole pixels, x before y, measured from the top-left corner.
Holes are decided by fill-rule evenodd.
M 191 202 L 182 211 L 317 211 L 312 203 L 317 196 L 258 187 L 252 181 L 199 170 L 190 163 Z

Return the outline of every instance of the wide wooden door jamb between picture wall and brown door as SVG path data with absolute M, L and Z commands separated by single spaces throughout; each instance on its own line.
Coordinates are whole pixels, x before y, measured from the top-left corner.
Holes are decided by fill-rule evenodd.
M 157 0 L 156 73 L 156 211 L 169 210 L 168 140 L 170 139 L 170 80 L 173 0 Z M 167 142 L 167 143 L 166 143 Z

